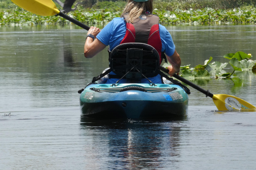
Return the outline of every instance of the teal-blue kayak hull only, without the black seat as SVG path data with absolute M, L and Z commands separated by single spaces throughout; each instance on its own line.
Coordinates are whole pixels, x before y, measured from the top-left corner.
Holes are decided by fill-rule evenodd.
M 171 84 L 91 84 L 80 96 L 84 116 L 112 118 L 149 118 L 185 115 L 188 95 Z

